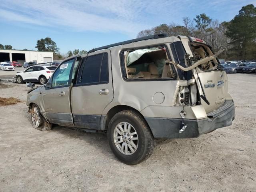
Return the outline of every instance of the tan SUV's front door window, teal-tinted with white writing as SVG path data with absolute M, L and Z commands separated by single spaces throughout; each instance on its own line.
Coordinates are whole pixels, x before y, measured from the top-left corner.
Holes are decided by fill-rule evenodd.
M 74 59 L 68 60 L 60 65 L 58 69 L 53 74 L 52 77 L 52 87 L 68 85 L 70 70 Z

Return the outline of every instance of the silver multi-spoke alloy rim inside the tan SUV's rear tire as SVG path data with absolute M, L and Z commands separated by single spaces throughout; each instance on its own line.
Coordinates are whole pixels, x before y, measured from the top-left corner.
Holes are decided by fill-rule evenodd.
M 130 123 L 120 122 L 114 129 L 114 144 L 122 154 L 134 154 L 139 144 L 137 131 Z

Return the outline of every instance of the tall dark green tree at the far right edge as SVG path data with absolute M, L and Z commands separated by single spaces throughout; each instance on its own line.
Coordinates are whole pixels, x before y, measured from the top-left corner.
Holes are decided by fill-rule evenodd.
M 253 4 L 243 6 L 232 19 L 226 35 L 230 38 L 230 54 L 238 59 L 256 58 L 256 8 Z

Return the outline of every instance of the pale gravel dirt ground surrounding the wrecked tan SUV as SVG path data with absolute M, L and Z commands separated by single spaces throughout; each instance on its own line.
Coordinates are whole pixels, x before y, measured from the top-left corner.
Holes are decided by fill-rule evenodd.
M 228 74 L 236 119 L 195 139 L 158 141 L 136 166 L 119 162 L 105 134 L 30 123 L 25 84 L 0 89 L 0 191 L 256 191 L 256 74 Z M 1 78 L 1 76 L 0 76 Z M 11 84 L 11 83 L 6 83 Z

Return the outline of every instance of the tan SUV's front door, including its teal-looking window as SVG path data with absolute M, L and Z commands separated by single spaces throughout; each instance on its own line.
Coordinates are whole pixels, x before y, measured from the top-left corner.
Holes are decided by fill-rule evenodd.
M 63 62 L 52 75 L 50 88 L 42 93 L 46 116 L 51 123 L 73 126 L 70 111 L 71 70 L 76 58 Z

